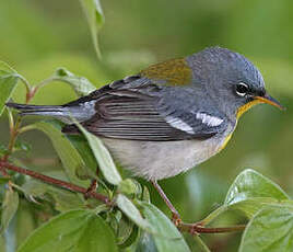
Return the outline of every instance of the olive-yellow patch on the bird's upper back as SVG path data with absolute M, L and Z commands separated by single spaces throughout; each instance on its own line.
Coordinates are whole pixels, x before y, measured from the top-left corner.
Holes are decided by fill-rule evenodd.
M 165 80 L 167 84 L 188 84 L 191 69 L 183 58 L 155 64 L 140 72 L 141 76 L 154 80 Z

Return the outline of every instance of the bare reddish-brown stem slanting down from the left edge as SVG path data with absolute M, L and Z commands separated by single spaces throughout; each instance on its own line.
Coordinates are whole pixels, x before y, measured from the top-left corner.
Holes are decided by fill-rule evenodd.
M 15 165 L 10 164 L 10 163 L 4 162 L 4 161 L 0 161 L 0 169 L 1 168 L 32 176 L 32 177 L 34 177 L 36 180 L 40 180 L 47 184 L 56 185 L 56 186 L 59 186 L 61 188 L 69 190 L 71 192 L 81 193 L 81 194 L 85 195 L 87 198 L 89 197 L 96 198 L 99 202 L 103 202 L 106 205 L 112 206 L 112 202 L 107 196 L 99 194 L 99 193 L 96 193 L 94 191 L 89 191 L 87 188 L 81 187 L 79 185 L 75 185 L 75 184 L 72 184 L 69 182 L 65 182 L 61 180 L 57 180 L 57 179 L 40 174 L 40 173 L 35 172 L 35 171 L 27 170 L 24 168 L 15 167 Z

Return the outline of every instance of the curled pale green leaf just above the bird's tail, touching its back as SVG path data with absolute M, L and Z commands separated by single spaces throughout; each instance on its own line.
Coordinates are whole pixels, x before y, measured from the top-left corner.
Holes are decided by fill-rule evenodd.
M 84 77 L 78 77 L 66 68 L 58 68 L 52 76 L 54 80 L 70 84 L 78 96 L 84 96 L 96 90 L 96 88 Z

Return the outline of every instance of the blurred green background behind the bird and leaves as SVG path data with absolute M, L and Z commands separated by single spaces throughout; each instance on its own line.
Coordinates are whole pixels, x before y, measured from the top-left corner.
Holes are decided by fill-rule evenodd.
M 241 119 L 221 154 L 161 184 L 186 221 L 199 220 L 222 204 L 230 184 L 245 168 L 271 177 L 293 195 L 292 0 L 113 0 L 102 1 L 102 5 L 106 22 L 99 34 L 103 57 L 97 60 L 78 0 L 1 0 L 0 59 L 32 83 L 66 67 L 101 87 L 152 62 L 208 46 L 242 53 L 258 66 L 267 89 L 288 110 L 255 107 Z M 32 102 L 62 104 L 72 99 L 70 88 L 52 83 Z M 24 101 L 23 87 L 19 85 L 14 100 Z M 47 169 L 55 167 L 50 160 L 56 154 L 45 135 L 32 131 L 22 139 L 33 145 L 32 159 L 38 158 L 32 165 L 43 162 L 45 169 L 46 163 Z M 7 140 L 8 121 L 1 117 L 0 141 Z M 168 214 L 155 193 L 152 198 Z M 35 221 L 28 220 L 33 218 L 28 218 L 28 208 L 23 204 L 17 218 L 23 221 L 23 230 L 17 231 L 20 242 Z M 236 214 L 228 215 L 223 222 L 235 218 Z M 235 251 L 239 242 L 238 234 L 209 234 L 203 239 L 213 251 Z

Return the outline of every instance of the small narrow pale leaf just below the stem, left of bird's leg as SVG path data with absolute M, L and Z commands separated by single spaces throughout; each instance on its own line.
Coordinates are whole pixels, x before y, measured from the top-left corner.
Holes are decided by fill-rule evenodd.
M 128 199 L 125 195 L 119 194 L 116 199 L 117 206 L 121 209 L 121 211 L 131 219 L 136 225 L 141 227 L 144 230 L 151 230 L 148 221 L 141 216 L 139 209 L 134 206 L 134 204 Z

